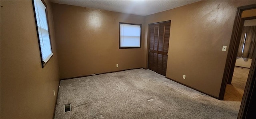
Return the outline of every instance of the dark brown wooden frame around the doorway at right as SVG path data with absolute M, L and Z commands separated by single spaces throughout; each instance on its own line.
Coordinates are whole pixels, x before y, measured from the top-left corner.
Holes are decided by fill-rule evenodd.
M 229 50 L 228 50 L 228 56 L 226 59 L 226 65 L 224 69 L 222 84 L 220 88 L 220 94 L 219 99 L 224 99 L 225 89 L 227 83 L 230 84 L 232 81 L 232 76 L 234 72 L 234 65 L 236 63 L 236 56 L 238 52 L 238 47 L 240 43 L 240 37 L 242 34 L 242 27 L 244 25 L 244 20 L 247 20 L 248 18 L 241 18 L 242 12 L 244 10 L 251 10 L 255 9 L 256 4 L 248 5 L 248 6 L 242 6 L 237 8 L 237 14 L 234 21 L 234 27 L 232 31 L 232 36 L 230 40 Z M 251 19 L 250 17 L 249 19 Z M 254 54 L 256 54 L 256 48 L 254 48 Z M 250 104 L 252 104 L 252 97 L 255 98 L 255 96 L 252 94 L 255 91 L 256 85 L 255 84 L 255 77 L 256 77 L 256 55 L 253 56 L 251 68 L 249 71 L 248 79 L 246 82 L 246 87 L 244 89 L 244 95 L 242 98 L 240 110 L 238 113 L 238 119 L 244 119 L 248 113 L 250 113 Z

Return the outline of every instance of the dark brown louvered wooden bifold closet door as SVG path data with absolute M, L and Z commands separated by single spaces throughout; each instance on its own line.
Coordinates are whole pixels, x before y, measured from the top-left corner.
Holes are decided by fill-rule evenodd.
M 166 76 L 171 21 L 149 25 L 148 69 Z

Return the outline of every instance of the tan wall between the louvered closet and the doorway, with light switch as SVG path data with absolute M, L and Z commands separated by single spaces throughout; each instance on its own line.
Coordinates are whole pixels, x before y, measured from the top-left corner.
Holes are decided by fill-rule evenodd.
M 166 77 L 218 97 L 237 7 L 255 3 L 200 1 L 146 16 L 145 24 L 171 20 Z

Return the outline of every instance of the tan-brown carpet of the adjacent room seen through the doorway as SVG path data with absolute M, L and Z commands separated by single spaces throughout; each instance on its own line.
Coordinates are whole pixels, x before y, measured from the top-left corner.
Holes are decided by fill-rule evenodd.
M 231 84 L 227 84 L 224 100 L 242 101 L 250 69 L 235 67 Z

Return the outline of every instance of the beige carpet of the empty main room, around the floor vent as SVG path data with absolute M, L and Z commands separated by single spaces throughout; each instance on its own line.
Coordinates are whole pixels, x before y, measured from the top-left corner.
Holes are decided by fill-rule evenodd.
M 64 112 L 64 105 L 71 111 Z M 239 101 L 220 101 L 148 69 L 60 81 L 55 119 L 236 119 Z

